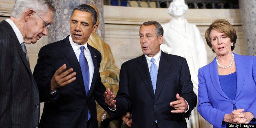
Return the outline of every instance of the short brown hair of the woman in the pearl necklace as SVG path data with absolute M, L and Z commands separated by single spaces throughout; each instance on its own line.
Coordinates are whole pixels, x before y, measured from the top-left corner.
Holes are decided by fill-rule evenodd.
M 211 37 L 210 37 L 210 32 L 212 30 L 216 30 L 219 32 L 223 32 L 228 38 L 230 38 L 230 42 L 233 42 L 233 46 L 231 46 L 231 51 L 235 49 L 235 44 L 236 44 L 236 29 L 230 22 L 228 22 L 225 19 L 216 19 L 212 22 L 212 24 L 209 26 L 209 28 L 205 31 L 205 39 L 207 42 L 207 45 L 212 48 L 211 44 Z M 214 52 L 214 50 L 212 49 Z

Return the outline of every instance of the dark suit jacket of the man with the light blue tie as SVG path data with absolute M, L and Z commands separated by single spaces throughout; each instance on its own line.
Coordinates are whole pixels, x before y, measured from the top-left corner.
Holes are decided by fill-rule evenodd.
M 189 105 L 187 113 L 171 113 L 170 102 L 179 93 Z M 196 95 L 188 64 L 183 57 L 161 53 L 156 93 L 152 88 L 148 64 L 144 55 L 122 64 L 117 93 L 117 115 L 132 112 L 132 128 L 186 128 L 185 118 L 196 106 Z M 131 106 L 129 108 L 129 106 Z

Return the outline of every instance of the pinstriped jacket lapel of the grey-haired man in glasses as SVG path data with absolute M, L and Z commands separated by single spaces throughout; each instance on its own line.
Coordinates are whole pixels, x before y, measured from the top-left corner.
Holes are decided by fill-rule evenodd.
M 4 24 L 4 26 L 6 27 L 7 31 L 9 32 L 9 34 L 11 35 L 12 39 L 13 39 L 13 45 L 16 47 L 18 54 L 20 55 L 20 58 L 22 60 L 22 62 L 24 63 L 24 65 L 26 66 L 27 70 L 29 71 L 30 75 L 32 76 L 32 72 L 31 69 L 29 67 L 29 63 L 26 60 L 26 55 L 24 53 L 24 51 L 22 50 L 22 47 L 20 45 L 20 42 L 15 34 L 15 32 L 13 31 L 13 28 L 11 27 L 11 25 L 6 22 L 6 21 L 2 21 L 1 23 Z

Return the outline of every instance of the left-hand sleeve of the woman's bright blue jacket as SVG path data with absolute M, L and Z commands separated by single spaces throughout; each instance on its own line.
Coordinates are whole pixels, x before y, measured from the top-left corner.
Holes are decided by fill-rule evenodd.
M 199 68 L 198 78 L 199 78 L 199 84 L 198 84 L 199 103 L 197 106 L 198 112 L 210 124 L 212 124 L 215 127 L 221 128 L 222 121 L 226 113 L 212 107 L 212 103 L 208 98 L 208 94 L 207 94 L 208 92 L 208 89 L 206 86 L 207 83 L 205 81 L 205 77 L 203 75 L 201 68 Z

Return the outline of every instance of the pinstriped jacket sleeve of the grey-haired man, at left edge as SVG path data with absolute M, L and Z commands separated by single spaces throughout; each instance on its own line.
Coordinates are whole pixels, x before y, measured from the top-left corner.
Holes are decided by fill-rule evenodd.
M 2 29 L 1 29 L 2 31 Z M 12 96 L 13 50 L 10 37 L 0 33 L 0 127 L 11 125 L 10 105 Z

